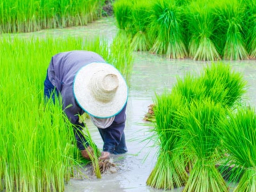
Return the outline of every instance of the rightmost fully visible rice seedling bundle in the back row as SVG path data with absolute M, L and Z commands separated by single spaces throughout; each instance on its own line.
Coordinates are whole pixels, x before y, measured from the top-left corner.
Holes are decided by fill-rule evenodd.
M 244 39 L 244 5 L 237 0 L 217 4 L 218 29 L 223 39 L 223 59 L 248 59 Z

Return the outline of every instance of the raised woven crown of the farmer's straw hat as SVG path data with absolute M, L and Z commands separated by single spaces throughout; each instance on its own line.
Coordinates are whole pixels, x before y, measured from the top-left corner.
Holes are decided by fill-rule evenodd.
M 118 76 L 112 73 L 97 73 L 91 79 L 91 91 L 93 97 L 101 102 L 111 101 L 119 86 Z

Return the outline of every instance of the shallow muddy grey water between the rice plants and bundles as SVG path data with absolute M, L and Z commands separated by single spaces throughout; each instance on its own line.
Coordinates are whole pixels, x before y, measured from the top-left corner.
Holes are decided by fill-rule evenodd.
M 42 30 L 39 32 L 20 34 L 19 36 L 104 36 L 112 39 L 116 34 L 113 18 L 103 18 L 86 27 Z M 14 35 L 17 36 L 17 35 Z M 125 155 L 111 156 L 117 164 L 116 173 L 103 174 L 102 179 L 90 176 L 89 179 L 71 179 L 66 192 L 157 192 L 146 186 L 146 180 L 156 163 L 156 147 L 150 142 L 143 142 L 151 136 L 150 124 L 142 119 L 154 99 L 155 92 L 160 94 L 164 88 L 171 89 L 176 77 L 183 77 L 187 72 L 199 73 L 205 62 L 193 60 L 170 60 L 146 52 L 135 52 L 134 70 L 127 105 L 127 121 L 125 127 L 126 142 L 129 152 Z M 244 74 L 248 81 L 248 104 L 256 103 L 256 61 L 231 62 L 233 68 Z M 92 138 L 99 148 L 102 140 L 98 130 L 88 122 Z M 146 147 L 145 147 L 146 146 Z M 147 157 L 147 158 L 146 158 Z M 182 188 L 172 191 L 181 191 Z

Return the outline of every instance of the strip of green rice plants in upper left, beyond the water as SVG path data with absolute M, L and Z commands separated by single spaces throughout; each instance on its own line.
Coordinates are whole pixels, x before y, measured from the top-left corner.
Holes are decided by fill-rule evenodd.
M 0 33 L 86 25 L 100 17 L 103 0 L 9 0 L 0 3 Z

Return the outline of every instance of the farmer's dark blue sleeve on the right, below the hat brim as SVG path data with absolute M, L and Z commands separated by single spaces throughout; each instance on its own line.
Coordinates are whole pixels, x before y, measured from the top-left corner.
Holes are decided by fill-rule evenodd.
M 100 129 L 102 139 L 104 141 L 103 151 L 113 153 L 116 146 L 119 145 L 124 132 L 126 120 L 126 104 L 122 111 L 116 115 L 113 123 L 106 129 Z

